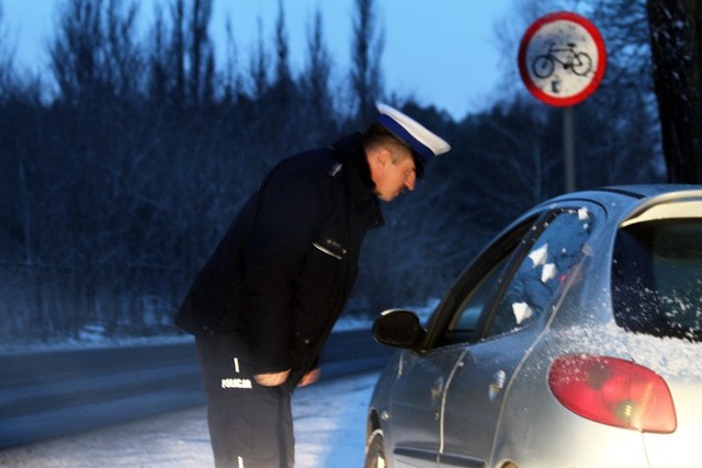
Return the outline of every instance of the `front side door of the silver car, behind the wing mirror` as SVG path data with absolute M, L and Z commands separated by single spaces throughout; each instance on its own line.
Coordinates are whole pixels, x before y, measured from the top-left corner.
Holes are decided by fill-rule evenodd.
M 529 225 L 522 230 L 528 231 Z M 491 249 L 476 262 L 476 276 L 463 275 L 457 289 L 452 289 L 432 317 L 429 330 L 442 330 L 437 345 L 426 352 L 404 351 L 400 355 L 397 379 L 393 385 L 388 425 L 394 441 L 393 458 L 397 466 L 435 467 L 443 449 L 442 418 L 445 416 L 446 392 L 451 379 L 462 375 L 463 365 L 472 336 L 475 336 L 478 318 L 497 287 L 498 279 L 518 248 L 521 236 L 512 236 Z M 495 254 L 498 251 L 499 254 Z M 455 308 L 456 292 L 464 297 L 469 290 L 469 300 L 464 300 L 461 312 Z M 450 312 L 442 312 L 448 308 Z M 441 323 L 451 319 L 451 323 Z M 437 323 L 439 321 L 439 323 Z

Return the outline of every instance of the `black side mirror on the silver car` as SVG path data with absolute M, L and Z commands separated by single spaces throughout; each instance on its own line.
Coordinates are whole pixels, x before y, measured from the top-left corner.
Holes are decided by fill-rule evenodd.
M 426 336 L 419 317 L 409 310 L 385 310 L 373 322 L 373 338 L 386 346 L 414 349 Z

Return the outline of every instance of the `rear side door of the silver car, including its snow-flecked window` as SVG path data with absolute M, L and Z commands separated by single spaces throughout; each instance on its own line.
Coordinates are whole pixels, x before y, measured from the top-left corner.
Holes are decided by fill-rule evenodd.
M 512 375 L 586 258 L 592 219 L 587 210 L 544 214 L 501 267 L 482 308 L 477 333 L 453 366 L 442 397 L 440 465 L 483 467 L 489 460 Z M 488 252 L 489 254 L 489 252 Z M 474 292 L 454 322 L 472 306 Z M 450 327 L 451 329 L 451 327 Z M 526 403 L 526 402 L 525 402 Z

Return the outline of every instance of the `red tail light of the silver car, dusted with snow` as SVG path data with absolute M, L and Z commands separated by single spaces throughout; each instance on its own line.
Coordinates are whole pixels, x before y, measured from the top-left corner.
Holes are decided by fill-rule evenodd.
M 618 427 L 670 433 L 676 410 L 666 381 L 629 361 L 595 355 L 557 357 L 548 387 L 574 413 Z

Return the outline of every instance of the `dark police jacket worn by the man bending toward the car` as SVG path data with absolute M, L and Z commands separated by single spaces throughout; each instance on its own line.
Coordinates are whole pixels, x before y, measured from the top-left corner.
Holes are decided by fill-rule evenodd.
M 282 161 L 239 212 L 174 322 L 246 356 L 256 374 L 317 365 L 358 274 L 366 231 L 383 225 L 360 134 Z

